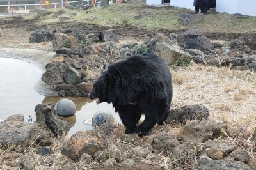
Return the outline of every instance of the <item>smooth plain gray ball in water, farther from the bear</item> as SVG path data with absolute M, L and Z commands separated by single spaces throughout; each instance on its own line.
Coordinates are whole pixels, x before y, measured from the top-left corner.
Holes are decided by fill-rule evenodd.
M 76 105 L 72 100 L 61 98 L 55 105 L 55 109 L 59 116 L 73 116 L 76 113 Z

